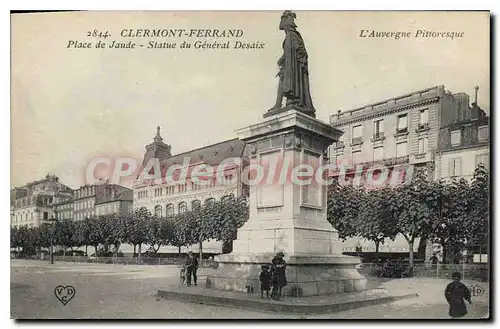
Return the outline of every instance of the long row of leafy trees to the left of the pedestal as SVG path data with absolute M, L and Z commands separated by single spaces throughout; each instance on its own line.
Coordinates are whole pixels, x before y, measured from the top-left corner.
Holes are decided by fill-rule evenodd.
M 129 214 L 89 217 L 82 221 L 71 219 L 58 220 L 53 224 L 36 228 L 22 226 L 12 228 L 11 248 L 22 248 L 24 253 L 32 254 L 52 243 L 62 246 L 63 250 L 94 247 L 96 256 L 102 246 L 104 253 L 111 247 L 118 252 L 122 243 L 134 246 L 139 261 L 142 245 L 150 246 L 157 252 L 161 246 L 171 245 L 180 248 L 202 241 L 214 239 L 231 242 L 236 231 L 248 219 L 248 205 L 243 198 L 225 197 L 203 206 L 171 217 L 156 217 L 146 208 L 136 209 Z

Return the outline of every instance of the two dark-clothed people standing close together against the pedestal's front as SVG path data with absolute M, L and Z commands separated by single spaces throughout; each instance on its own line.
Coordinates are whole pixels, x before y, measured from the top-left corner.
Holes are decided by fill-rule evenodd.
M 281 298 L 281 290 L 287 285 L 286 281 L 286 261 L 283 259 L 285 256 L 281 251 L 276 253 L 271 260 L 271 267 L 263 265 L 262 271 L 259 275 L 260 281 L 260 297 L 264 298 L 264 292 L 267 298 L 279 300 Z M 269 290 L 271 290 L 269 296 Z

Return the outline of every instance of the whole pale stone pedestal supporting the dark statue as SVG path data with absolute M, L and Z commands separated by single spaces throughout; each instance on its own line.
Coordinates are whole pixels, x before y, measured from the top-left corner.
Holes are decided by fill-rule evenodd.
M 216 257 L 219 268 L 207 287 L 259 291 L 261 265 L 282 251 L 288 264 L 284 295 L 364 290 L 359 258 L 342 255 L 338 233 L 326 219 L 326 154 L 342 132 L 288 107 L 237 133 L 247 143 L 254 173 L 261 168 L 260 179 L 249 181 L 249 220 L 238 230 L 233 252 Z

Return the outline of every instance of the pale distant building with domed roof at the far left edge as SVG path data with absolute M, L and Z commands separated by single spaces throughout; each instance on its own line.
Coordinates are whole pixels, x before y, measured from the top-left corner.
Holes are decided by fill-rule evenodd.
M 38 227 L 54 218 L 54 202 L 70 200 L 71 188 L 55 175 L 16 187 L 11 191 L 11 226 Z

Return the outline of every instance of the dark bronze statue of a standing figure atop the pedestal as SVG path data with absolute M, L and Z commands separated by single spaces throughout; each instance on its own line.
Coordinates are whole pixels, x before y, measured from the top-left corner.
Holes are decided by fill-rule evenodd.
M 294 22 L 296 17 L 297 15 L 290 10 L 281 15 L 279 28 L 285 31 L 285 40 L 283 56 L 278 60 L 278 97 L 271 110 L 281 108 L 285 97 L 286 106 L 298 107 L 300 111 L 314 116 L 315 110 L 309 90 L 307 51 L 302 36 L 296 30 L 297 25 Z

